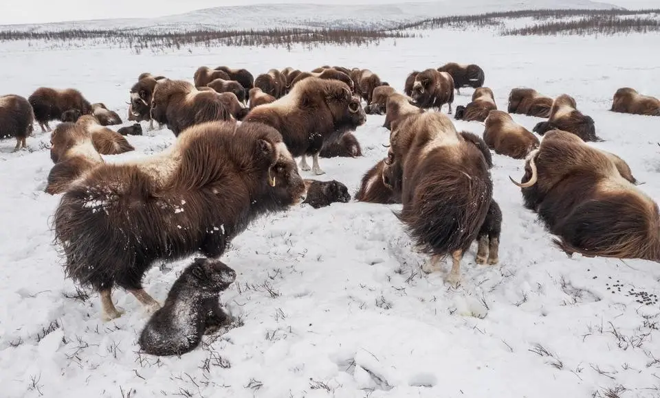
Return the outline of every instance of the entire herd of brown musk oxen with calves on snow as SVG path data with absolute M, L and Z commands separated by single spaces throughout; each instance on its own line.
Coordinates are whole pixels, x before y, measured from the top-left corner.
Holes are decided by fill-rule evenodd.
M 352 132 L 366 115 L 384 115 L 387 152 L 354 199 L 400 204 L 395 215 L 428 255 L 422 269 L 439 270 L 450 257 L 454 287 L 473 242 L 477 264 L 498 263 L 503 214 L 493 197 L 491 150 L 525 159 L 522 180 L 511 180 L 565 253 L 660 261 L 657 204 L 623 159 L 586 143 L 601 139 L 575 99 L 514 88 L 505 112 L 484 82 L 481 67 L 453 62 L 412 71 L 403 93 L 369 69 L 287 67 L 255 78 L 246 69 L 204 66 L 192 82 L 140 74 L 127 93 L 133 124 L 117 130 L 109 126 L 122 124 L 120 116 L 76 89 L 4 95 L 0 136 L 16 139 L 17 151 L 27 148 L 35 121 L 43 132 L 61 121 L 50 136 L 54 165 L 45 192 L 61 195 L 52 226 L 65 273 L 98 292 L 106 320 L 122 314 L 113 288 L 135 296 L 153 313 L 140 347 L 155 355 L 195 349 L 204 333 L 230 320 L 218 296 L 236 272 L 219 258 L 250 222 L 300 203 L 318 209 L 351 201 L 343 183 L 303 179 L 299 170 L 320 175 L 320 157 L 362 156 Z M 448 116 L 464 87 L 474 89 L 472 101 L 456 106 L 454 119 L 481 123 L 482 136 L 456 130 Z M 660 116 L 660 102 L 623 88 L 611 110 Z M 547 120 L 530 132 L 512 113 Z M 167 126 L 175 143 L 144 159 L 107 163 L 104 156 L 134 150 L 126 136 L 141 135 L 143 121 L 148 130 Z M 203 257 L 161 306 L 144 290 L 144 273 L 192 255 Z

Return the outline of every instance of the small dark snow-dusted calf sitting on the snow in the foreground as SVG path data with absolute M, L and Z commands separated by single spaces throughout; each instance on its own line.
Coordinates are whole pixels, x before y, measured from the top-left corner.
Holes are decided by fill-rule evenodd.
M 235 280 L 236 272 L 222 261 L 197 257 L 142 329 L 140 349 L 151 355 L 182 355 L 195 349 L 201 336 L 231 319 L 219 299 Z

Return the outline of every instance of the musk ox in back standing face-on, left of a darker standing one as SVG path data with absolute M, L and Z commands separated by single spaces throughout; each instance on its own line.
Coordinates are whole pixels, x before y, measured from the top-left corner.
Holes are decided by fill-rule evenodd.
M 415 76 L 410 97 L 424 109 L 437 108 L 439 111 L 444 104 L 449 104 L 449 113 L 452 113 L 454 80 L 447 72 L 426 69 Z

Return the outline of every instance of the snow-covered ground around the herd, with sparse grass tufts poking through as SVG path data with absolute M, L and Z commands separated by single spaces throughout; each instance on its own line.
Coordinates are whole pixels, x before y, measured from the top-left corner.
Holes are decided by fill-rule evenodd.
M 126 115 L 128 91 L 144 71 L 192 80 L 200 65 L 312 69 L 327 63 L 365 67 L 402 89 L 412 69 L 474 62 L 498 107 L 511 88 L 569 93 L 591 115 L 595 143 L 628 161 L 660 200 L 660 118 L 608 112 L 621 86 L 660 95 L 660 35 L 500 37 L 437 30 L 375 47 L 193 49 L 135 56 L 121 49 L 34 51 L 0 45 L 3 93 L 27 97 L 39 86 L 80 89 Z M 467 104 L 463 90 L 456 104 Z M 445 108 L 446 109 L 446 108 Z M 531 129 L 540 119 L 513 115 Z M 322 159 L 327 175 L 354 193 L 384 157 L 384 117 L 356 132 L 364 156 Z M 478 123 L 458 128 L 481 133 Z M 146 127 L 146 126 L 145 126 Z M 37 130 L 39 130 L 37 128 Z M 161 152 L 166 130 L 128 137 L 125 161 Z M 147 320 L 132 296 L 116 291 L 126 314 L 100 320 L 64 278 L 50 217 L 59 198 L 43 193 L 52 167 L 50 134 L 10 153 L 0 141 L 0 379 L 3 397 L 659 397 L 660 307 L 632 293 L 660 294 L 660 266 L 649 261 L 568 259 L 551 245 L 520 190 L 520 161 L 494 155 L 495 198 L 504 213 L 500 264 L 463 262 L 463 285 L 427 276 L 393 215 L 398 206 L 351 202 L 295 207 L 263 218 L 234 239 L 223 257 L 236 270 L 221 296 L 242 325 L 206 339 L 181 358 L 137 353 Z M 312 177 L 302 172 L 304 177 Z M 165 299 L 188 260 L 155 266 L 146 290 Z M 619 290 L 620 288 L 620 290 Z M 45 337 L 45 331 L 50 331 Z M 618 391 L 618 395 L 608 395 Z

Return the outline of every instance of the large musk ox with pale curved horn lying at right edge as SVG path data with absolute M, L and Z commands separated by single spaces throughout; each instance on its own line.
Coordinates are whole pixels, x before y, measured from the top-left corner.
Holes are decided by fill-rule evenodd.
M 547 132 L 516 185 L 567 254 L 660 261 L 657 204 L 575 134 Z

